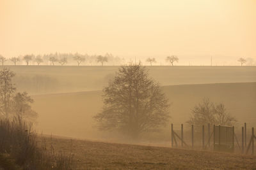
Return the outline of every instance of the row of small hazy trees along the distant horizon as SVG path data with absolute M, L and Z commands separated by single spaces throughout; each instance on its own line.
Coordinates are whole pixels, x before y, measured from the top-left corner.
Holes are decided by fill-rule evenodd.
M 3 55 L 0 55 L 0 62 L 1 65 L 4 66 L 4 62 L 10 60 L 13 62 L 13 65 L 16 66 L 19 62 L 26 62 L 26 66 L 29 65 L 42 65 L 46 63 L 46 65 L 51 65 L 55 66 L 57 63 L 60 66 L 65 66 L 68 63 L 76 63 L 77 66 L 80 66 L 83 62 L 88 62 L 90 66 L 95 62 L 100 63 L 101 66 L 104 66 L 104 63 L 106 62 L 111 62 L 114 66 L 116 65 L 123 65 L 125 64 L 125 59 L 120 58 L 118 56 L 114 56 L 111 53 L 106 53 L 105 55 L 88 55 L 88 54 L 81 54 L 81 53 L 49 53 L 49 54 L 44 54 L 44 55 L 34 55 L 34 54 L 29 54 L 29 55 L 20 55 L 19 57 L 12 57 L 10 59 L 7 59 L 6 57 L 3 57 Z M 71 62 L 70 62 L 71 60 Z M 165 61 L 173 66 L 175 62 L 179 62 L 179 57 L 177 55 L 170 55 L 165 58 Z M 240 57 L 238 62 L 241 63 L 241 66 L 243 66 L 247 60 L 244 59 L 243 57 Z M 31 64 L 32 62 L 32 64 Z M 145 62 L 150 64 L 150 66 L 153 66 L 154 63 L 157 62 L 156 58 L 154 57 L 148 57 Z M 130 60 L 129 63 L 132 63 Z M 141 63 L 141 60 L 139 62 Z

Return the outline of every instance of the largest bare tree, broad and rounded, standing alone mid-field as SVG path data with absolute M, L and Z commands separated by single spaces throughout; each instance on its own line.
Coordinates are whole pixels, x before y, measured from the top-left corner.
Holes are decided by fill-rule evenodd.
M 102 130 L 116 129 L 138 138 L 170 118 L 168 99 L 143 66 L 121 66 L 103 92 L 104 106 L 95 116 Z

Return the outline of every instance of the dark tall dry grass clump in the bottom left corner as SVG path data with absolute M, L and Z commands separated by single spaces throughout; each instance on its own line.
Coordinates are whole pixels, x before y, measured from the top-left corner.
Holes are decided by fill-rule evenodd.
M 0 118 L 0 169 L 73 169 L 70 153 L 48 150 L 45 142 L 29 124 L 20 117 Z

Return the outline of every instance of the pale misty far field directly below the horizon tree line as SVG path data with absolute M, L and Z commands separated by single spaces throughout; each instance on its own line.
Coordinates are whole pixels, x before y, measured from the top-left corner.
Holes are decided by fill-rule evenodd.
M 1 67 L 1 66 L 0 66 Z M 16 73 L 18 90 L 49 94 L 101 90 L 118 66 L 7 66 Z M 256 67 L 147 66 L 161 85 L 255 82 Z

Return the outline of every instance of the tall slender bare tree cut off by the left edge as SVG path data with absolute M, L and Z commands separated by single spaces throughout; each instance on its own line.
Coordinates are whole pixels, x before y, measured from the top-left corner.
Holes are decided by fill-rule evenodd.
M 15 74 L 8 68 L 3 68 L 0 71 L 0 112 L 6 117 L 10 112 L 10 99 L 16 89 L 12 83 L 13 76 Z

